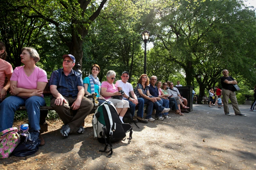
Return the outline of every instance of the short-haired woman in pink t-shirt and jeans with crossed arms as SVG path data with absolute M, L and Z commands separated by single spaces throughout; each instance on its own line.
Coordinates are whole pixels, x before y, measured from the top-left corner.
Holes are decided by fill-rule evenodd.
M 25 47 L 21 51 L 20 57 L 24 66 L 14 69 L 10 78 L 12 96 L 0 104 L 0 132 L 12 127 L 14 112 L 19 106 L 25 106 L 30 130 L 39 135 L 40 106 L 45 105 L 43 90 L 48 82 L 47 75 L 36 66 L 40 57 L 35 49 Z

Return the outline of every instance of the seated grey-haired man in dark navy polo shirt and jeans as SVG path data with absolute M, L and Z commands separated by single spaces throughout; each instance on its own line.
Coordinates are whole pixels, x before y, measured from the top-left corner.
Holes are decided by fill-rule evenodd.
M 150 77 L 150 84 L 149 84 L 149 93 L 153 96 L 156 97 L 158 102 L 155 103 L 160 103 L 161 106 L 156 106 L 154 103 L 154 106 L 156 107 L 156 116 L 155 119 L 157 120 L 163 120 L 165 119 L 170 119 L 171 117 L 167 116 L 169 112 L 169 100 L 168 99 L 161 99 L 159 98 L 159 92 L 158 88 L 155 86 L 157 82 L 157 77 L 156 76 L 151 76 Z M 164 109 L 166 108 L 166 109 Z

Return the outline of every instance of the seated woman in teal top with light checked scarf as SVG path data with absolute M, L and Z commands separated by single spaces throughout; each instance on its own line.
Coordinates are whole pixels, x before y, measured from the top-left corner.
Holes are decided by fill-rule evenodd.
M 100 72 L 100 67 L 97 64 L 93 64 L 91 67 L 91 71 L 92 71 L 92 74 L 84 78 L 83 80 L 84 93 L 85 95 L 97 93 L 99 105 L 101 105 L 102 103 L 106 102 L 106 99 L 100 96 L 101 83 L 99 81 L 99 78 L 97 77 Z M 108 103 L 112 103 L 112 102 L 109 101 Z

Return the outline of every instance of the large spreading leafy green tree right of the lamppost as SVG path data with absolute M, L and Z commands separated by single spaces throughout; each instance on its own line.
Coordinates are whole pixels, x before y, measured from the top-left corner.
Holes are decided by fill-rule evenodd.
M 188 85 L 196 78 L 203 94 L 224 68 L 255 83 L 254 10 L 240 0 L 164 0 L 156 6 L 150 25 L 154 48 L 165 53 L 161 60 L 168 58 L 183 68 Z

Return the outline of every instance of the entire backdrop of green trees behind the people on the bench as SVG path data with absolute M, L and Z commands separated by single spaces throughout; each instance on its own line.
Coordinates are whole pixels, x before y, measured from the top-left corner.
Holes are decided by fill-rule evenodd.
M 13 67 L 21 65 L 21 48 L 32 46 L 48 74 L 70 53 L 83 77 L 98 64 L 101 81 L 108 70 L 117 78 L 128 71 L 135 85 L 146 29 L 148 76 L 199 86 L 201 95 L 219 85 L 223 69 L 245 86 L 256 83 L 256 15 L 242 0 L 5 0 L 0 7 L 0 40 Z

